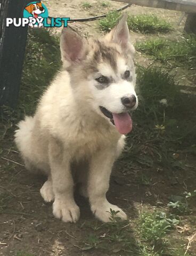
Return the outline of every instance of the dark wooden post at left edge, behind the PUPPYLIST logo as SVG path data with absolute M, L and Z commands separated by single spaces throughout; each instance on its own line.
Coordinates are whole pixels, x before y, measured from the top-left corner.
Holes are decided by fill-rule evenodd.
M 27 29 L 6 27 L 6 18 L 23 18 L 28 0 L 2 0 L 0 4 L 0 106 L 17 105 Z

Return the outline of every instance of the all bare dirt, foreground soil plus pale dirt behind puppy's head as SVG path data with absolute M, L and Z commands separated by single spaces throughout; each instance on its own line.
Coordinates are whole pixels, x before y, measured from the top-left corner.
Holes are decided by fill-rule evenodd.
M 124 6 L 122 3 L 111 1 L 110 7 L 103 8 L 100 7 L 99 1 L 89 0 L 88 2 L 92 3 L 93 7 L 84 9 L 81 2 L 83 1 L 43 1 L 48 7 L 51 17 L 70 17 L 72 19 L 93 17 Z M 177 25 L 182 13 L 136 5 L 129 7 L 127 11 L 132 14 L 154 13 L 169 20 L 175 27 L 176 30 L 170 34 L 171 37 L 182 33 L 184 20 L 181 26 Z M 100 34 L 97 22 L 73 23 L 72 26 L 76 26 L 84 35 L 97 36 Z M 59 32 L 58 29 L 53 31 L 56 34 Z M 133 42 L 136 42 L 137 39 L 151 37 L 132 31 L 131 36 Z M 144 63 L 145 59 L 143 57 L 141 59 Z M 102 250 L 96 252 L 81 250 L 84 238 L 91 233 L 92 226 L 99 223 L 99 221 L 95 221 L 89 210 L 88 202 L 76 195 L 76 202 L 81 211 L 80 220 L 76 225 L 55 219 L 52 214 L 52 205 L 45 204 L 39 194 L 44 178 L 34 177 L 25 170 L 17 151 L 15 151 L 13 137 L 10 137 L 9 134 L 6 136 L 7 143 L 1 145 L 4 151 L 3 157 L 0 158 L 0 196 L 2 195 L 4 198 L 3 211 L 0 214 L 0 255 L 16 256 L 18 251 L 32 253 L 35 256 L 120 255 L 115 252 L 108 254 Z M 195 159 L 190 159 L 190 163 L 195 166 Z M 158 166 L 154 166 L 153 170 L 146 168 L 144 171 L 151 177 L 152 186 L 138 182 L 137 172 L 139 169 L 140 164 L 130 167 L 129 171 L 125 173 L 117 164 L 108 192 L 109 201 L 123 207 L 132 220 L 143 205 L 153 209 L 159 203 L 164 205 L 168 202 L 168 197 L 171 194 L 176 195 L 185 190 L 195 189 L 195 169 L 189 166 L 182 172 L 173 172 L 172 179 L 166 172 L 161 172 Z M 189 231 L 183 233 L 184 236 L 195 233 L 195 221 L 196 218 L 192 218 L 191 221 L 184 220 L 189 225 Z M 196 247 L 193 246 L 192 251 L 194 249 Z M 28 256 L 28 254 L 24 255 Z

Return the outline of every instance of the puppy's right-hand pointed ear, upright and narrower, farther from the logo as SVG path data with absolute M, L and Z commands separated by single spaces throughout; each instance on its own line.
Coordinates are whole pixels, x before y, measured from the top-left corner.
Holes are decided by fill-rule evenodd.
M 108 35 L 110 41 L 121 46 L 125 51 L 135 52 L 134 46 L 130 43 L 129 29 L 127 25 L 128 14 L 125 13 L 115 28 Z

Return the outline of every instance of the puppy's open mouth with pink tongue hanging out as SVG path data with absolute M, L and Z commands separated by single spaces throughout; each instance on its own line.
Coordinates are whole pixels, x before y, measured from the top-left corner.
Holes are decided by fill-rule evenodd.
M 132 131 L 132 118 L 126 113 L 115 114 L 111 113 L 108 109 L 100 107 L 104 116 L 110 119 L 110 122 L 116 126 L 116 129 L 121 134 L 127 134 Z

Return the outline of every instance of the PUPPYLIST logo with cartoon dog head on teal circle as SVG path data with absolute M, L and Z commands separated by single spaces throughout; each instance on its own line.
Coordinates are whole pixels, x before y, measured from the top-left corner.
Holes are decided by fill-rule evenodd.
M 48 18 L 48 10 L 42 2 L 29 3 L 24 11 L 23 18 L 6 18 L 6 27 L 13 25 L 14 27 L 31 28 L 60 28 L 67 27 L 70 18 Z

